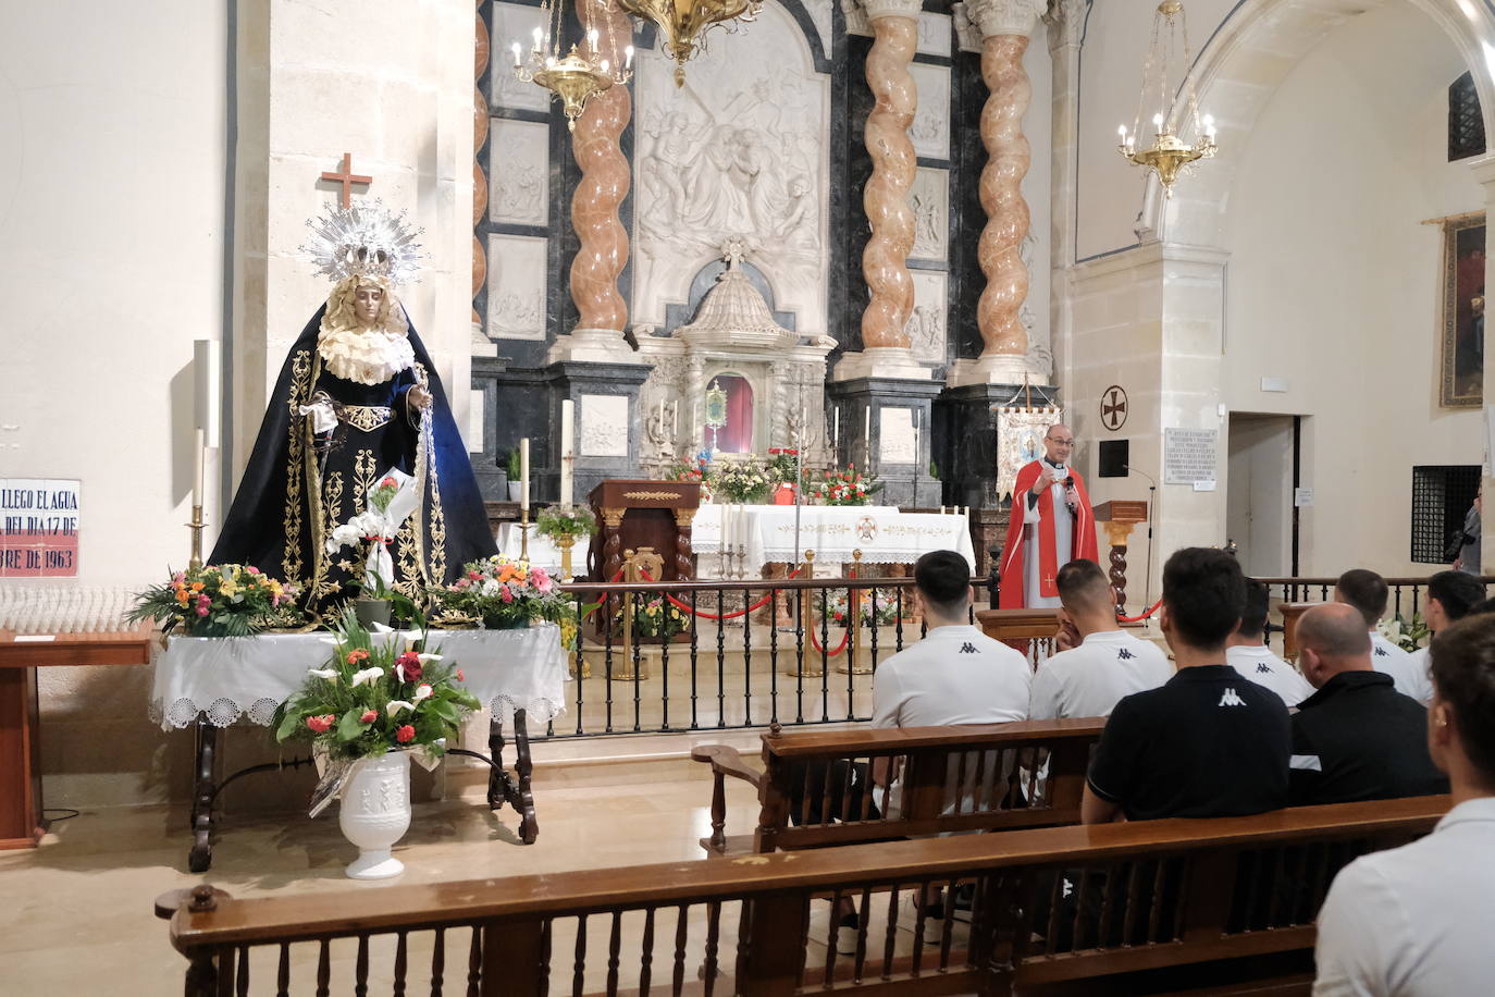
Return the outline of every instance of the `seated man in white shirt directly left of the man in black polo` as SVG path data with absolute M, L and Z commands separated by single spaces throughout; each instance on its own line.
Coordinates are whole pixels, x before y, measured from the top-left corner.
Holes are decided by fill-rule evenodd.
M 1094 561 L 1070 561 L 1054 580 L 1063 608 L 1061 626 L 1081 638 L 1033 676 L 1030 720 L 1109 716 L 1117 700 L 1156 689 L 1174 677 L 1174 665 L 1157 644 L 1138 640 L 1117 623 L 1111 583 Z

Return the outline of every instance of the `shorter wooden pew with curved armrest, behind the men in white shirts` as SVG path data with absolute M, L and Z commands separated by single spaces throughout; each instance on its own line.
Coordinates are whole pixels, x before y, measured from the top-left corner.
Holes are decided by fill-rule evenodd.
M 1023 720 L 990 726 L 855 728 L 762 735 L 762 771 L 737 749 L 703 744 L 691 758 L 712 767 L 712 855 L 767 854 L 943 831 L 999 831 L 1079 822 L 1090 749 L 1105 719 Z M 1046 752 L 1046 779 L 1020 761 Z M 873 809 L 854 770 L 901 771 L 898 806 Z M 758 789 L 758 828 L 725 833 L 727 777 Z M 1027 806 L 1011 806 L 1021 783 Z M 957 794 L 957 786 L 964 789 Z M 960 806 L 955 798 L 960 795 Z M 798 806 L 795 807 L 795 801 Z

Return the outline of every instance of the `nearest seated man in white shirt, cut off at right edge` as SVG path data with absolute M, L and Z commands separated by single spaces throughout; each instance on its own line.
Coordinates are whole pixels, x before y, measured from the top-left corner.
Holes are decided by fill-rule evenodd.
M 1428 837 L 1335 876 L 1319 912 L 1314 994 L 1491 993 L 1495 924 L 1495 617 L 1432 641 L 1428 747 L 1453 809 Z

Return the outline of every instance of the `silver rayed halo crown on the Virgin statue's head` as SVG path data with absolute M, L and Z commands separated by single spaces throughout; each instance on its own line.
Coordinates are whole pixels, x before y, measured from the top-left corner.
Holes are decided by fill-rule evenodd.
M 420 244 L 425 229 L 405 221 L 381 200 L 365 200 L 351 208 L 329 205 L 308 218 L 311 241 L 300 251 L 317 265 L 317 272 L 341 283 L 350 277 L 383 277 L 390 284 L 414 281 L 420 269 Z

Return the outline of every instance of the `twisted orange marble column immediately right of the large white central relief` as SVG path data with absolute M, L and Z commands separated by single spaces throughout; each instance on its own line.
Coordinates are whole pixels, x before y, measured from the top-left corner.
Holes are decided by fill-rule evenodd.
M 918 0 L 872 0 L 876 40 L 867 54 L 867 85 L 876 106 L 867 115 L 867 152 L 872 178 L 863 194 L 872 238 L 861 254 L 861 272 L 872 291 L 861 315 L 863 347 L 907 347 L 904 326 L 913 312 L 913 278 L 907 259 L 913 251 L 913 211 L 909 187 L 918 158 L 909 126 L 919 106 L 918 85 L 909 63 L 918 46 Z

